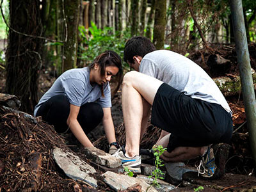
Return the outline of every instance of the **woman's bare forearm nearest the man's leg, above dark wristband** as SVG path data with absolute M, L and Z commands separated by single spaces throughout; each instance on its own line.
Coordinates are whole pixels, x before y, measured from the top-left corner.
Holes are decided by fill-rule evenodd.
M 108 138 L 108 143 L 116 142 L 116 136 L 115 136 L 115 128 L 111 116 L 111 108 L 102 108 L 103 109 L 103 126 L 106 133 L 106 136 Z

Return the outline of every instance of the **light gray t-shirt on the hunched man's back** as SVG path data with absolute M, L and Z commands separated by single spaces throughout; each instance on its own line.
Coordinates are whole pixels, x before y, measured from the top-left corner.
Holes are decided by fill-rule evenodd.
M 150 52 L 141 60 L 139 71 L 169 84 L 192 98 L 220 104 L 232 114 L 227 100 L 211 77 L 181 54 L 167 50 Z

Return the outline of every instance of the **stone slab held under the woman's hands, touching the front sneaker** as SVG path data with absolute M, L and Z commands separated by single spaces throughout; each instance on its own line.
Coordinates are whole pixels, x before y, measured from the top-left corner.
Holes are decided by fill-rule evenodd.
M 86 158 L 91 159 L 97 164 L 101 164 L 109 168 L 117 168 L 118 166 L 122 165 L 120 159 L 111 156 L 111 154 L 108 154 L 99 148 L 85 147 L 83 152 L 86 155 Z

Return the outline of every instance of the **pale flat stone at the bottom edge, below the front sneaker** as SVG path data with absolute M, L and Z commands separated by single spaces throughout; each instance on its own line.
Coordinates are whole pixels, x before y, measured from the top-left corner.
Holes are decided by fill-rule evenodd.
M 145 182 L 143 179 L 138 179 L 128 175 L 113 172 L 106 172 L 102 174 L 102 176 L 104 176 L 104 182 L 106 182 L 106 184 L 108 184 L 115 191 L 125 190 L 131 186 L 134 186 L 135 184 L 140 184 L 141 191 L 157 191 L 155 188 L 150 187 L 150 185 L 147 184 L 147 182 Z

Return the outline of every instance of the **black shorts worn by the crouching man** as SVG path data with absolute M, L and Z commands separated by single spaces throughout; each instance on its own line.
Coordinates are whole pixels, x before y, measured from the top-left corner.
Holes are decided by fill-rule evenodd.
M 157 90 L 151 123 L 172 133 L 168 152 L 176 147 L 228 143 L 233 132 L 232 116 L 219 104 L 193 99 L 166 83 Z

